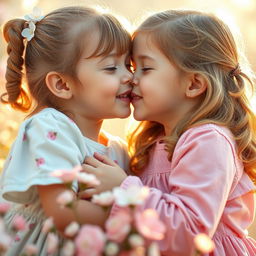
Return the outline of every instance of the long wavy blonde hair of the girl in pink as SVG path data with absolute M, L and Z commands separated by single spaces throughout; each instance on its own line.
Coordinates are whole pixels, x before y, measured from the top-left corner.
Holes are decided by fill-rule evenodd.
M 249 107 L 246 85 L 253 82 L 239 68 L 239 56 L 231 31 L 214 15 L 198 11 L 170 10 L 146 19 L 136 30 L 145 33 L 180 70 L 201 74 L 208 82 L 202 101 L 165 138 L 169 160 L 180 136 L 189 128 L 213 123 L 228 127 L 234 135 L 239 158 L 256 180 L 256 118 Z M 139 174 L 164 127 L 143 121 L 129 137 L 131 170 Z

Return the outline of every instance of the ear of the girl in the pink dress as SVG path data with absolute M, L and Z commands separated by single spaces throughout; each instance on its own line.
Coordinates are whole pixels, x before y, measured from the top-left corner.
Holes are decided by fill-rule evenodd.
M 186 87 L 186 96 L 188 98 L 195 98 L 203 94 L 207 89 L 208 82 L 201 74 L 192 74 L 190 82 Z

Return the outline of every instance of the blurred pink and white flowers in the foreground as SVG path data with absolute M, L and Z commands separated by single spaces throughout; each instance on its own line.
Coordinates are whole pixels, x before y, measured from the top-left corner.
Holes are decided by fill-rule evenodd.
M 53 176 L 60 178 L 70 188 L 74 180 L 81 188 L 99 184 L 94 175 L 81 172 L 81 167 L 72 170 L 56 170 Z M 82 185 L 81 185 L 82 184 Z M 157 241 L 164 238 L 166 227 L 159 219 L 154 209 L 140 210 L 145 198 L 149 194 L 147 187 L 130 187 L 127 190 L 114 188 L 112 191 L 94 195 L 92 202 L 108 210 L 115 202 L 122 210 L 110 216 L 103 230 L 95 225 L 81 225 L 78 222 L 70 223 L 65 229 L 66 241 L 61 248 L 63 256 L 160 256 Z M 76 207 L 74 194 L 66 191 L 57 198 L 62 207 Z M 0 214 L 3 217 L 8 211 L 9 204 L 0 204 Z M 15 232 L 26 228 L 22 216 L 16 216 L 13 221 L 13 232 L 7 234 L 4 222 L 0 218 L 0 255 L 10 246 Z M 53 218 L 44 222 L 42 232 L 47 233 L 47 252 L 51 255 L 59 249 L 58 236 L 54 227 Z M 214 244 L 204 234 L 195 239 L 198 251 L 196 254 L 207 253 L 214 249 Z M 27 245 L 23 256 L 37 255 L 35 245 Z

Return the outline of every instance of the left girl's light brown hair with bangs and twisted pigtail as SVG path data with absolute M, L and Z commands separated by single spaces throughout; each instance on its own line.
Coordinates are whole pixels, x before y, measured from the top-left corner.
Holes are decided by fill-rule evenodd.
M 56 71 L 76 79 L 77 63 L 94 31 L 99 33 L 99 40 L 90 57 L 104 56 L 114 49 L 123 54 L 131 46 L 130 34 L 115 17 L 85 7 L 65 7 L 49 13 L 36 23 L 35 36 L 28 42 L 21 35 L 27 26 L 25 20 L 13 19 L 3 28 L 9 57 L 7 92 L 1 101 L 26 112 L 31 109 L 33 98 L 36 106 L 31 114 L 44 107 L 61 108 L 58 98 L 46 86 L 45 77 Z M 23 73 L 29 93 L 22 87 Z

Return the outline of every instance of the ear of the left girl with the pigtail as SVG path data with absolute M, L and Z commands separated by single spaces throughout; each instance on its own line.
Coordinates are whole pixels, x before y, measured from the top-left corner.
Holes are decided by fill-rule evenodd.
M 58 72 L 51 71 L 46 75 L 45 82 L 49 90 L 57 97 L 71 99 L 73 96 L 68 79 Z

